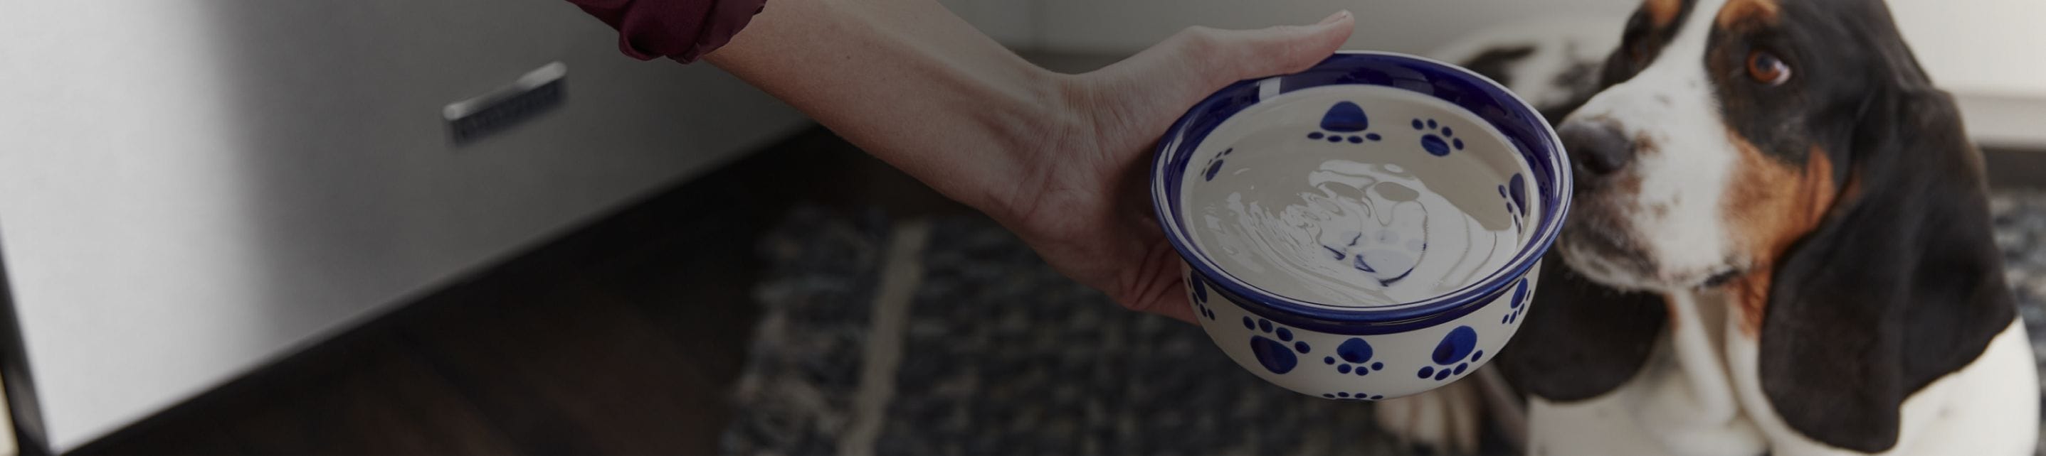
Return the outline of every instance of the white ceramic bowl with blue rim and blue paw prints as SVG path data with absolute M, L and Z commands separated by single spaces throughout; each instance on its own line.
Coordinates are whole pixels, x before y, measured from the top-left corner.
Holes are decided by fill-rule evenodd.
M 1498 135 L 1512 145 L 1510 151 L 1496 147 L 1498 153 L 1518 151 L 1518 159 L 1524 159 L 1524 170 L 1530 174 L 1524 182 L 1520 174 L 1514 174 L 1512 182 L 1465 182 L 1485 184 L 1487 190 L 1498 184 L 1500 198 L 1518 217 L 1514 221 L 1520 223 L 1516 225 L 1520 229 L 1518 252 L 1504 260 L 1504 268 L 1477 274 L 1479 278 L 1469 286 L 1432 299 L 1391 305 L 1330 305 L 1252 286 L 1224 272 L 1209 252 L 1201 252 L 1183 223 L 1185 211 L 1189 211 L 1181 202 L 1183 180 L 1213 180 L 1219 162 L 1230 153 L 1219 151 L 1217 155 L 1217 151 L 1203 149 L 1201 141 L 1215 133 L 1224 121 L 1262 100 L 1340 84 L 1397 88 L 1442 100 L 1436 104 L 1463 110 L 1440 112 L 1444 119 L 1481 119 L 1489 127 L 1479 127 L 1477 131 Z M 1363 143 L 1369 137 L 1369 141 L 1385 141 L 1387 145 L 1420 147 L 1434 155 L 1447 151 L 1440 137 L 1426 135 L 1440 133 L 1434 131 L 1434 119 L 1422 125 L 1416 117 L 1408 129 L 1404 112 L 1367 127 L 1363 112 L 1348 112 L 1348 108 L 1365 106 L 1363 110 L 1371 110 L 1371 100 L 1326 100 L 1324 104 L 1330 104 L 1330 119 L 1322 121 L 1328 131 L 1307 133 L 1309 139 L 1340 135 L 1338 141 Z M 1336 104 L 1346 106 L 1338 108 Z M 1354 119 L 1336 119 L 1338 115 Z M 1444 129 L 1447 125 L 1444 121 Z M 1416 139 L 1420 141 L 1416 143 Z M 1463 143 L 1457 141 L 1455 149 L 1461 151 Z M 1416 395 L 1483 366 L 1526 319 L 1541 258 L 1555 241 L 1569 211 L 1569 192 L 1571 176 L 1563 145 L 1549 123 L 1524 100 L 1463 67 L 1369 51 L 1336 53 L 1299 74 L 1246 80 L 1215 92 L 1166 131 L 1158 141 L 1152 170 L 1152 202 L 1166 237 L 1185 260 L 1187 292 L 1201 327 L 1215 339 L 1215 346 L 1256 376 L 1328 399 L 1377 401 Z

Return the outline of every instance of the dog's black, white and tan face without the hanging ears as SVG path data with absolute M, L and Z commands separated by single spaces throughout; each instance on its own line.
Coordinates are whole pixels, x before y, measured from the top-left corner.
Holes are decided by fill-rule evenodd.
M 1768 268 L 1845 190 L 1874 102 L 1931 92 L 1874 0 L 1649 0 L 1602 86 L 1559 129 L 1580 184 L 1559 249 L 1639 290 Z

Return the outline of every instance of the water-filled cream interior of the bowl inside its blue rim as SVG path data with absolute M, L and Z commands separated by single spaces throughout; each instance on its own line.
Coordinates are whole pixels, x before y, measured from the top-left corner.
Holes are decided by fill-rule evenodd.
M 1183 227 L 1224 274 L 1326 307 L 1397 307 L 1504 268 L 1539 221 L 1528 164 L 1467 110 L 1320 86 L 1230 117 L 1195 149 Z

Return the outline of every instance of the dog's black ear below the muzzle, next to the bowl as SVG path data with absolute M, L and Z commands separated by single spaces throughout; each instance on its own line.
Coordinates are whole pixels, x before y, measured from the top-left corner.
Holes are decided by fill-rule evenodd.
M 1549 254 L 1526 321 L 1494 364 L 1528 395 L 1584 401 L 1635 378 L 1667 321 L 1661 297 L 1594 284 Z

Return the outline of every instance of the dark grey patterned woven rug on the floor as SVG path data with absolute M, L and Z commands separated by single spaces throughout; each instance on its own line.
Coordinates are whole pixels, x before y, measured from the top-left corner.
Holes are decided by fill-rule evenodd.
M 2046 354 L 2046 194 L 1993 207 Z M 1199 327 L 1115 307 L 986 219 L 798 209 L 759 254 L 763 319 L 726 454 L 1412 452 L 1369 403 L 1271 386 Z

